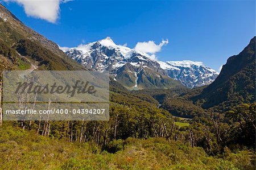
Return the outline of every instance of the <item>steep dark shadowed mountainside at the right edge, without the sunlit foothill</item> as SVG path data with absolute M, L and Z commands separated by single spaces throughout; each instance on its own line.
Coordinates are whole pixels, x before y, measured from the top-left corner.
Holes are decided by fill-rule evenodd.
M 238 55 L 229 57 L 216 80 L 196 96 L 202 107 L 226 110 L 238 103 L 255 101 L 255 37 Z

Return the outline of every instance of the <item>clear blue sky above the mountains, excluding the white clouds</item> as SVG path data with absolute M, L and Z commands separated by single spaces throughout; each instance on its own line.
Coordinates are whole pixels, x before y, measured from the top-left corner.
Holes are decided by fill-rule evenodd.
M 3 5 L 61 47 L 106 36 L 130 48 L 168 39 L 159 60 L 202 61 L 216 71 L 255 36 L 255 1 L 71 1 L 60 3 L 53 20 L 28 16 L 15 2 Z

